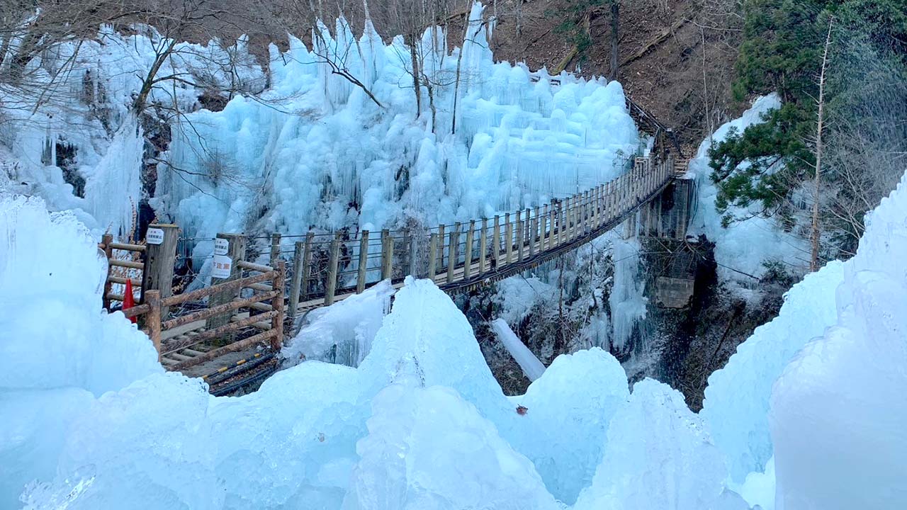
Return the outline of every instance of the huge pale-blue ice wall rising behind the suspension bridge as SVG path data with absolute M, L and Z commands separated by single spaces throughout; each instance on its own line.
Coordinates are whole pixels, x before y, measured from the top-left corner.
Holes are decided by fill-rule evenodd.
M 296 234 L 436 225 L 537 205 L 622 172 L 639 136 L 620 84 L 494 64 L 482 10 L 473 6 L 462 48 L 448 48 L 437 28 L 416 41 L 424 72 L 440 83 L 432 103 L 423 87 L 419 118 L 401 84 L 412 84 L 401 37 L 385 44 L 368 25 L 356 39 L 339 20 L 312 48 L 296 39 L 285 54 L 272 47 L 270 90 L 190 113 L 176 130 L 170 161 L 184 172 L 161 172 L 160 211 L 193 237 L 251 222 Z

